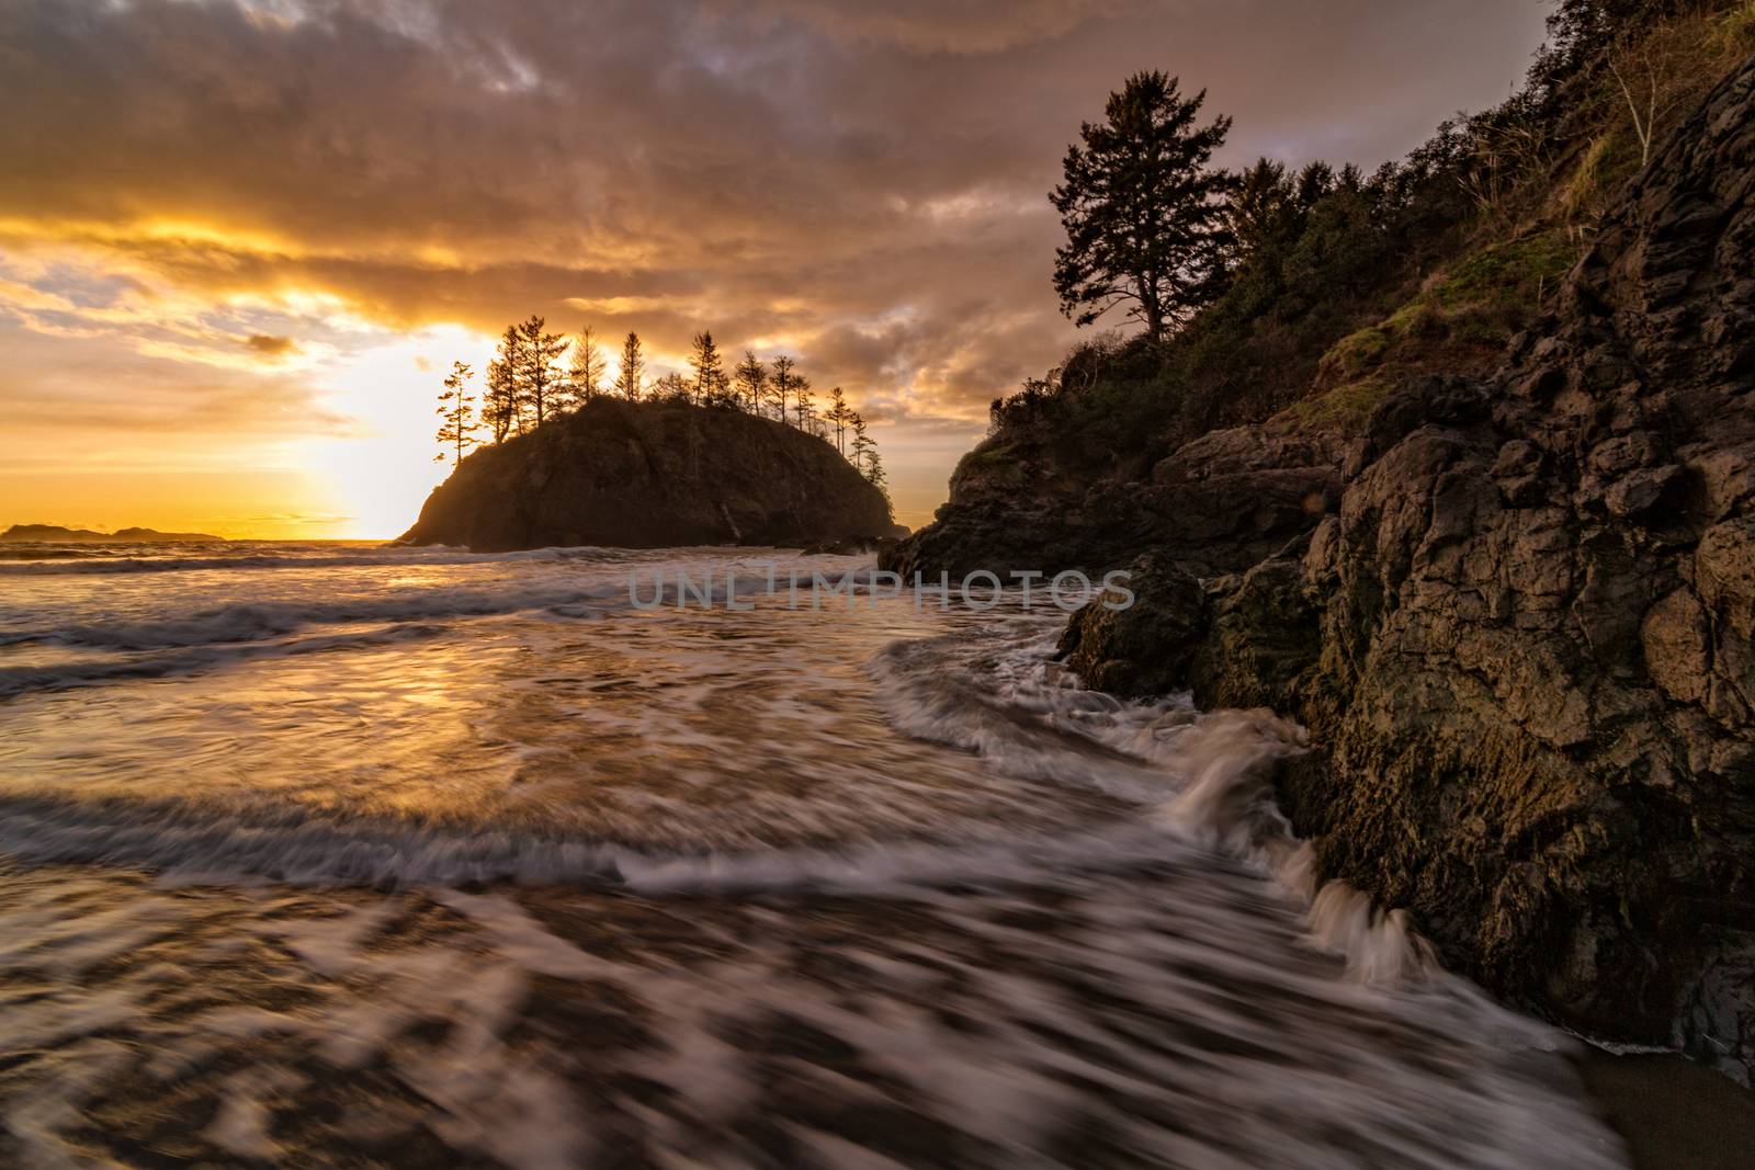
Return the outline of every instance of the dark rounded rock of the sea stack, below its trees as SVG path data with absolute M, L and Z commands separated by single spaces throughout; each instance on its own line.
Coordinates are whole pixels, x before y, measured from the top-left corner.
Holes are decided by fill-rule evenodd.
M 821 439 L 737 410 L 597 398 L 467 456 L 411 544 L 814 544 L 892 530 L 883 493 Z

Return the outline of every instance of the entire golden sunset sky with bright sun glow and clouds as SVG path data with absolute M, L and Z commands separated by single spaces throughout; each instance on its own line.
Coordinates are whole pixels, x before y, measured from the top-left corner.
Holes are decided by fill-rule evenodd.
M 1074 339 L 1046 191 L 1134 70 L 1374 167 L 1539 0 L 0 0 L 0 526 L 395 537 L 514 317 L 786 351 L 921 524 Z M 1120 321 L 1118 321 L 1120 325 Z

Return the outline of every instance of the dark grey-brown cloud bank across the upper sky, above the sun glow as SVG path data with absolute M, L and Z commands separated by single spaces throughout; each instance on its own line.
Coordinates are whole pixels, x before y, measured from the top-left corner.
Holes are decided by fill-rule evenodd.
M 974 417 L 1072 332 L 1044 200 L 1179 74 L 1258 153 L 1376 163 L 1501 98 L 1536 0 L 0 5 L 0 249 L 195 295 L 544 312 Z M 251 349 L 261 346 L 251 339 Z

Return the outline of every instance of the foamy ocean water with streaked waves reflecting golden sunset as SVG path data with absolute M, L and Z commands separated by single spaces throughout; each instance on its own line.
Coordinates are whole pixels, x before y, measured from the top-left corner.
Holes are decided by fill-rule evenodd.
M 1299 728 L 849 558 L 0 549 L 0 1165 L 1616 1166 Z M 637 609 L 660 574 L 751 610 Z M 674 600 L 674 595 L 672 595 Z

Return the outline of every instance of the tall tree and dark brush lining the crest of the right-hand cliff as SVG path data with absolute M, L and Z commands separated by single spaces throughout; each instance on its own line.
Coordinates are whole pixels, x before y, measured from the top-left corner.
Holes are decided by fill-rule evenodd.
M 993 432 L 1030 428 L 1092 468 L 1150 461 L 1299 402 L 1330 347 L 1418 309 L 1423 282 L 1462 258 L 1541 235 L 1530 251 L 1555 274 L 1530 284 L 1557 288 L 1655 133 L 1716 79 L 1704 54 L 1746 53 L 1751 30 L 1734 0 L 1560 0 L 1522 91 L 1371 174 L 1213 167 L 1230 119 L 1204 118 L 1206 95 L 1174 77 L 1135 74 L 1083 126 L 1049 200 L 1067 230 L 1062 309 L 1144 330 L 1085 342 L 997 398 Z M 1494 319 L 1415 312 L 1406 326 L 1490 349 L 1541 307 L 1537 295 Z

